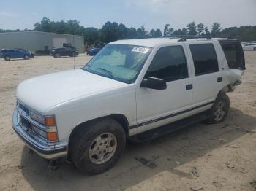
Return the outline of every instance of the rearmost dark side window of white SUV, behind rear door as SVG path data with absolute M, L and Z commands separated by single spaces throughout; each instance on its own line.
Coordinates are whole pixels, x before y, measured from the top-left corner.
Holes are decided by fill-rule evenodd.
M 221 40 L 219 43 L 230 69 L 245 69 L 244 51 L 237 40 Z

